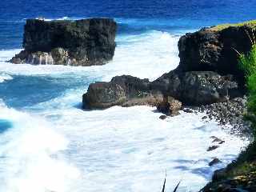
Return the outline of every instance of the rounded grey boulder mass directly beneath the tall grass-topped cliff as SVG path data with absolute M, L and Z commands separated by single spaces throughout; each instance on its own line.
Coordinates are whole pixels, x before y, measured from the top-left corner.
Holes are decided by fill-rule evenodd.
M 151 87 L 186 105 L 196 106 L 224 102 L 240 94 L 232 75 L 221 76 L 212 71 L 173 70 L 152 82 Z

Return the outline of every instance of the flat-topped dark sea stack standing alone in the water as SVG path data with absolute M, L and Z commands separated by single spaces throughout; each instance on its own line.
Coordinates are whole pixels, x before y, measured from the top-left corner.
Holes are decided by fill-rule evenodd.
M 117 25 L 110 18 L 28 19 L 24 30 L 25 50 L 10 62 L 91 66 L 105 64 L 114 56 Z

